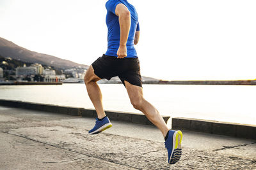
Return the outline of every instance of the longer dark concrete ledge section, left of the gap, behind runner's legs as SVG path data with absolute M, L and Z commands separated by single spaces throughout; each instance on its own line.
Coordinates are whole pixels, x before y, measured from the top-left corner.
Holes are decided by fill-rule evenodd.
M 79 117 L 97 117 L 95 110 L 88 110 L 84 108 L 75 108 L 67 106 L 57 106 L 52 104 L 29 103 L 22 101 L 9 101 L 0 99 L 0 105 L 12 108 L 25 108 L 29 110 L 47 111 L 52 113 L 61 113 L 65 115 L 74 115 Z M 106 115 L 111 120 L 121 122 L 132 122 L 135 124 L 153 125 L 145 115 L 137 113 L 119 112 L 119 111 L 105 111 Z M 163 116 L 164 121 L 167 123 L 170 117 Z

